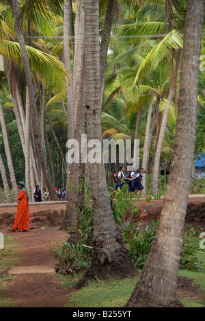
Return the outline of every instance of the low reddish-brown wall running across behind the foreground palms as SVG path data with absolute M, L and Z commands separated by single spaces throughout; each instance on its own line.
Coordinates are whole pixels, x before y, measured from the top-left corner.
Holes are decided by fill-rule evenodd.
M 156 221 L 160 219 L 163 208 L 163 200 L 136 201 L 139 208 L 137 218 L 143 221 Z M 0 227 L 11 227 L 16 216 L 17 204 L 0 206 Z M 29 204 L 30 211 L 30 229 L 38 229 L 43 226 L 59 227 L 66 211 L 66 201 L 44 202 L 42 204 Z M 129 215 L 128 215 L 129 217 Z M 128 217 L 126 219 L 128 219 Z M 205 224 L 205 200 L 190 199 L 187 204 L 187 215 L 185 223 Z

